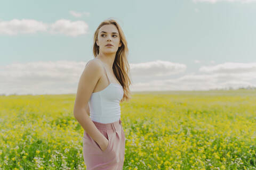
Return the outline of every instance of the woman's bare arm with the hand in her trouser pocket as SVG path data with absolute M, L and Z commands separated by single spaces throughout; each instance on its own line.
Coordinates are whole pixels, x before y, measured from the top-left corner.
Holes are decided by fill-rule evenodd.
M 93 89 L 101 77 L 101 65 L 95 60 L 90 60 L 81 75 L 78 83 L 76 99 L 74 104 L 74 117 L 81 124 L 82 128 L 90 137 L 102 148 L 107 147 L 108 140 L 97 129 L 89 117 L 90 108 L 88 101 L 92 95 Z

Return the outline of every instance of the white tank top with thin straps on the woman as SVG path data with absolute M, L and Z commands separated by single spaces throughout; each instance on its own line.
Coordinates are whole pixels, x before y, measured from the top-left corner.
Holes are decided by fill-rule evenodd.
M 103 68 L 107 75 L 104 65 Z M 90 97 L 89 107 L 92 121 L 113 123 L 121 118 L 120 100 L 124 95 L 123 87 L 118 83 L 111 83 L 109 79 L 108 82 L 109 84 L 105 89 L 93 92 Z

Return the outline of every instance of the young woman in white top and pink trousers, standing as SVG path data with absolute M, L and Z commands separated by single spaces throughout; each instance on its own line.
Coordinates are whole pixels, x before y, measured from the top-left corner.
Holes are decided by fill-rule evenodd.
M 87 170 L 123 169 L 125 134 L 120 102 L 130 97 L 127 41 L 115 20 L 103 21 L 94 33 L 94 59 L 78 83 L 74 117 L 84 129 Z

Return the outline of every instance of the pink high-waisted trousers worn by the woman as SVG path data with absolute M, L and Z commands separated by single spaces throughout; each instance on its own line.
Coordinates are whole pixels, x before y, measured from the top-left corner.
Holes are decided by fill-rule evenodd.
M 126 138 L 121 119 L 113 123 L 92 122 L 109 143 L 107 149 L 102 151 L 98 143 L 84 131 L 83 156 L 86 170 L 123 169 Z

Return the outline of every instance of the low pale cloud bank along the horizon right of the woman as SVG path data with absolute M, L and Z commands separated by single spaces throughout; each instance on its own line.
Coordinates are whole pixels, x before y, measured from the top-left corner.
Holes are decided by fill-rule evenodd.
M 153 79 L 148 82 L 135 82 L 130 89 L 132 91 L 187 91 L 256 87 L 256 83 L 247 81 L 246 78 L 244 80 L 238 78 L 238 76 L 227 77 L 223 80 L 218 74 L 187 74 L 175 79 Z

